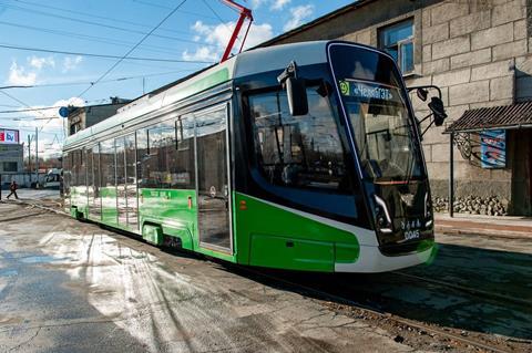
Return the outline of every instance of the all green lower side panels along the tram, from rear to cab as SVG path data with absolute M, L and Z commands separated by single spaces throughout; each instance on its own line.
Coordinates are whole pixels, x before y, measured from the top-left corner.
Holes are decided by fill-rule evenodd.
M 72 206 L 86 217 L 86 194 L 80 187 L 72 187 Z M 116 191 L 114 187 L 102 187 L 101 224 L 122 228 L 117 225 Z M 188 207 L 188 197 L 193 207 Z M 234 255 L 202 247 L 197 231 L 197 200 L 194 189 L 139 190 L 139 220 L 146 225 L 146 240 L 161 245 L 162 233 L 181 239 L 184 249 L 201 252 L 243 264 L 284 268 L 291 270 L 335 270 L 335 263 L 352 263 L 360 252 L 355 235 L 315 219 L 309 214 L 233 193 Z M 72 216 L 75 216 L 72 214 Z M 137 231 L 140 232 L 140 231 Z

